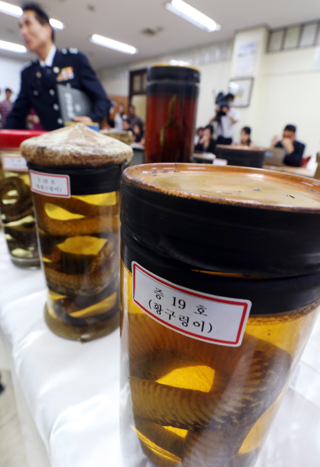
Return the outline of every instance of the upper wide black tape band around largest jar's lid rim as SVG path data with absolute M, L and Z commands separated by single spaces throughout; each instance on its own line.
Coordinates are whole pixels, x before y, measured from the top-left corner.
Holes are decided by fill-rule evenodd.
M 197 269 L 269 278 L 320 272 L 320 216 L 311 213 L 210 203 L 121 181 L 120 220 L 147 248 Z

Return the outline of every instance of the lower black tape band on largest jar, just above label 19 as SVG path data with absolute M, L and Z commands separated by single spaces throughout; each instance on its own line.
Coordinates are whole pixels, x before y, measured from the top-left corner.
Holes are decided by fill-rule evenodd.
M 281 279 L 225 277 L 194 271 L 191 265 L 160 255 L 129 235 L 121 227 L 121 257 L 131 270 L 132 261 L 160 278 L 199 292 L 250 300 L 251 315 L 285 313 L 320 299 L 320 273 Z

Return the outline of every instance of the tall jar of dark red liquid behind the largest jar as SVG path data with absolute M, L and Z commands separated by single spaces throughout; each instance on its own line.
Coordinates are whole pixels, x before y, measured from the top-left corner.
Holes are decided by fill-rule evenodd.
M 200 71 L 158 63 L 147 79 L 144 162 L 192 162 Z

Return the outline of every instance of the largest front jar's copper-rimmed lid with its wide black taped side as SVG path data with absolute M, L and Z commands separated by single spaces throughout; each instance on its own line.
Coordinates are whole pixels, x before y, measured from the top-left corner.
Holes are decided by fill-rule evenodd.
M 245 276 L 320 271 L 319 180 L 247 167 L 144 164 L 126 169 L 121 185 L 124 228 L 160 254 Z

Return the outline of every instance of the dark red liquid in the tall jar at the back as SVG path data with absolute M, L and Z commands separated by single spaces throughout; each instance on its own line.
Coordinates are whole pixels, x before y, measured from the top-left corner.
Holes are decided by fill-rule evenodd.
M 197 99 L 148 96 L 144 162 L 192 162 Z

